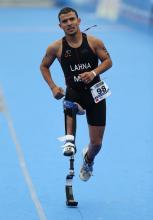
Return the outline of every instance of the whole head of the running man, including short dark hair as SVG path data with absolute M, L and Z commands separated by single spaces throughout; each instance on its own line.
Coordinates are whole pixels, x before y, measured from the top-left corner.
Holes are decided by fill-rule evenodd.
M 77 33 L 80 24 L 78 13 L 73 8 L 62 8 L 58 14 L 59 26 L 63 29 L 66 35 L 74 35 Z

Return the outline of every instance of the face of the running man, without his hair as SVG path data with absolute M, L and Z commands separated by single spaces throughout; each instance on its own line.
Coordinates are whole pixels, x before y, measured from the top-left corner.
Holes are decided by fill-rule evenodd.
M 80 19 L 77 18 L 74 12 L 60 15 L 59 26 L 63 29 L 66 35 L 75 35 L 79 30 Z

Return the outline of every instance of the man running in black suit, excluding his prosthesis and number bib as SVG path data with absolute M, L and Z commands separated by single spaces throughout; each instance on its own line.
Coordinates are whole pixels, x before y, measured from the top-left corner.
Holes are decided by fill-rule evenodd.
M 83 150 L 84 158 L 80 178 L 87 181 L 92 175 L 95 156 L 102 146 L 106 123 L 106 101 L 103 99 L 95 103 L 91 87 L 100 82 L 99 75 L 112 66 L 112 61 L 101 40 L 87 36 L 80 31 L 81 20 L 76 10 L 63 8 L 59 12 L 58 18 L 59 26 L 64 31 L 65 37 L 49 45 L 40 69 L 54 98 L 61 99 L 64 91 L 55 84 L 49 70 L 57 58 L 63 69 L 67 86 L 65 100 L 78 103 L 86 110 L 90 142 L 88 147 Z M 99 65 L 98 60 L 101 61 Z M 68 114 L 67 135 L 70 137 L 73 135 L 72 124 L 72 115 Z M 64 155 L 68 155 L 67 151 L 71 151 L 72 154 L 76 151 L 73 140 L 69 140 L 69 142 L 71 145 L 69 148 L 65 145 Z

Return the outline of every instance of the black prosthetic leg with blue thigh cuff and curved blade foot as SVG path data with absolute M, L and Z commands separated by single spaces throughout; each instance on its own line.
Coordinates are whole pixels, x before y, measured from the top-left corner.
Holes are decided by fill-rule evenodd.
M 78 107 L 73 102 L 64 101 L 64 116 L 65 116 L 65 135 L 67 135 L 67 115 L 71 114 L 73 119 L 73 136 L 74 136 L 74 145 L 75 145 L 75 134 L 76 134 L 76 114 L 78 112 Z M 72 180 L 74 177 L 74 155 L 70 156 L 70 167 L 69 173 L 66 176 L 66 205 L 69 207 L 76 207 L 78 202 L 74 200 L 73 189 L 72 189 Z

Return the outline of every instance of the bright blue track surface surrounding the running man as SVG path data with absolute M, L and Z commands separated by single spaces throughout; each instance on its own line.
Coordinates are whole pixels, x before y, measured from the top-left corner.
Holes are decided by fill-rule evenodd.
M 0 9 L 0 84 L 11 115 L 0 112 L 0 219 L 152 220 L 153 38 L 80 14 L 82 30 L 98 24 L 89 34 L 104 41 L 114 65 L 103 75 L 112 90 L 103 149 L 86 183 L 78 173 L 88 130 L 85 117 L 78 117 L 73 190 L 79 206 L 70 209 L 64 193 L 69 163 L 57 141 L 64 134 L 62 101 L 53 99 L 39 71 L 47 46 L 63 36 L 57 13 L 56 8 Z M 52 73 L 64 87 L 57 62 Z M 34 191 L 41 207 L 35 207 Z

